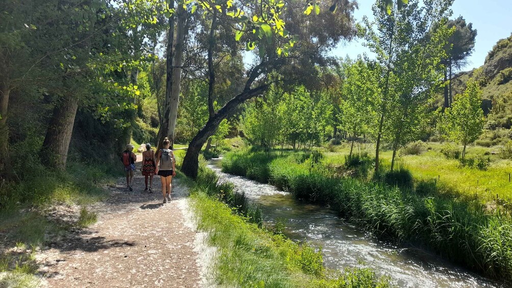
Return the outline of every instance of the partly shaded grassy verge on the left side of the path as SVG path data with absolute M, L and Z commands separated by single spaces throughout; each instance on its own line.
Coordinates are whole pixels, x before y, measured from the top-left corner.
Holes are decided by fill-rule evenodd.
M 87 205 L 108 196 L 103 186 L 114 185 L 120 175 L 120 167 L 108 163 L 72 162 L 66 171 L 48 170 L 35 161 L 31 165 L 34 167 L 26 170 L 30 173 L 20 175 L 16 182 L 3 184 L 0 189 L 1 287 L 36 286 L 38 280 L 32 275 L 38 269 L 35 261 L 38 247 L 71 228 L 95 223 L 96 213 L 89 211 Z M 72 222 L 47 213 L 55 206 L 75 205 L 81 208 L 76 219 L 71 217 Z

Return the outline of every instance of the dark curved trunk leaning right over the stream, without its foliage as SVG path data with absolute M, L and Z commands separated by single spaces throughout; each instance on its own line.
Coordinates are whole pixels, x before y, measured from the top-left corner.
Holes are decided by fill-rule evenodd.
M 221 121 L 231 116 L 235 112 L 238 105 L 256 95 L 261 94 L 267 89 L 267 87 L 268 85 L 261 85 L 254 89 L 246 89 L 241 94 L 229 100 L 229 102 L 227 102 L 226 105 L 224 105 L 224 107 L 222 107 L 214 117 L 210 117 L 208 119 L 208 122 L 206 122 L 204 127 L 199 130 L 194 139 L 190 141 L 190 144 L 188 144 L 188 150 L 185 154 L 185 158 L 183 159 L 183 165 L 181 166 L 181 171 L 185 175 L 193 179 L 197 178 L 197 171 L 199 168 L 198 157 L 204 142 L 206 142 L 210 136 L 215 134 L 215 131 L 219 127 Z

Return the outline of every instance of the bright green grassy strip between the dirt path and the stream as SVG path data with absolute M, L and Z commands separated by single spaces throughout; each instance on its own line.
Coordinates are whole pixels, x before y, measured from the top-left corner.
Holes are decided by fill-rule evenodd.
M 326 271 L 320 251 L 297 245 L 261 225 L 261 213 L 229 183 L 202 166 L 191 188 L 200 230 L 217 248 L 216 284 L 236 287 L 391 287 L 387 277 L 361 267 Z

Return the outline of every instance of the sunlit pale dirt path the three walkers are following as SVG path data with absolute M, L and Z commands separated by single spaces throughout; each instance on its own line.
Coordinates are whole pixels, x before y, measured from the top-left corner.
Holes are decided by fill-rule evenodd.
M 185 225 L 180 210 L 186 188 L 173 181 L 173 201 L 162 204 L 160 177 L 155 176 L 154 193 L 147 194 L 143 176 L 138 170 L 135 174 L 133 192 L 119 180 L 108 200 L 89 207 L 99 212 L 96 224 L 38 255 L 44 286 L 200 286 L 196 232 Z

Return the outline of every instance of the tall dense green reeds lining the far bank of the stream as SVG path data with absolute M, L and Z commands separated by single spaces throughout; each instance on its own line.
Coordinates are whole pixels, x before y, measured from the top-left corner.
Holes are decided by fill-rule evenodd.
M 512 217 L 504 207 L 440 195 L 434 181 L 399 189 L 345 177 L 339 167 L 302 153 L 231 152 L 222 167 L 329 205 L 377 236 L 420 244 L 486 276 L 512 279 Z

